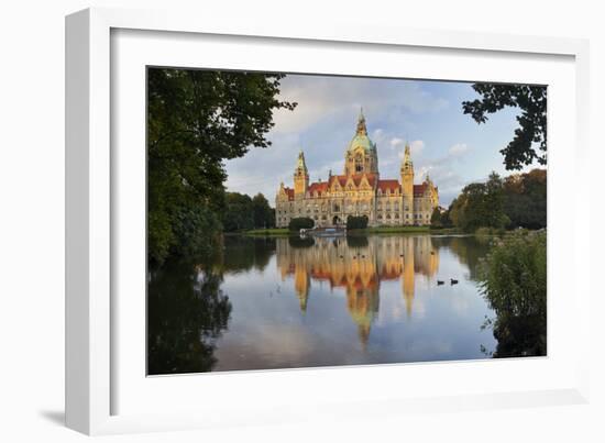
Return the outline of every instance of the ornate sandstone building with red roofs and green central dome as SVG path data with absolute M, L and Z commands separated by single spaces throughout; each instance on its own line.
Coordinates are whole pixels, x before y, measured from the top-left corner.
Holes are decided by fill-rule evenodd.
M 349 215 L 366 215 L 369 225 L 428 225 L 439 206 L 439 190 L 427 177 L 414 184 L 414 164 L 406 143 L 399 178 L 382 179 L 376 144 L 367 136 L 360 112 L 355 135 L 344 153 L 342 175 L 330 173 L 328 180 L 309 182 L 302 151 L 294 170 L 294 187 L 282 182 L 275 198 L 278 228 L 292 219 L 310 218 L 316 226 L 334 226 Z

